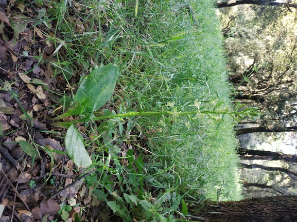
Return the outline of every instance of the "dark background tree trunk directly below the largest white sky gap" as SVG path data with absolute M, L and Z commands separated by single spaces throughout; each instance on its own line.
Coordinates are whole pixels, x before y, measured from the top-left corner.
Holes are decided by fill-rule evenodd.
M 278 152 L 239 148 L 237 149 L 237 154 L 239 154 L 240 159 L 285 160 L 297 163 L 297 155 L 290 155 Z

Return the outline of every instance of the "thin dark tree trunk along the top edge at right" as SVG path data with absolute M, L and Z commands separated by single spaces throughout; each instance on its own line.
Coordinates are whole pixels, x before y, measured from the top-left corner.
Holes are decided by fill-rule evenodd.
M 227 2 L 220 2 L 217 3 L 218 8 L 224 8 L 224 7 L 232 7 L 237 5 L 244 5 L 244 4 L 251 4 L 251 5 L 265 5 L 265 6 L 286 6 L 286 7 L 292 7 L 297 8 L 296 5 L 293 4 L 287 4 L 287 3 L 279 3 L 272 0 L 231 0 Z

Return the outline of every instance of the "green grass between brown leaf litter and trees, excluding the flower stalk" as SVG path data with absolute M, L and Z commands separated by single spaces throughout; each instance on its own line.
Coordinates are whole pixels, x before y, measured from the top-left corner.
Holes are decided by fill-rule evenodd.
M 100 1 L 83 7 L 90 7 L 83 18 L 99 22 L 100 28 L 74 34 L 69 32 L 74 27 L 71 18 L 61 16 L 64 37 L 77 48 L 67 61 L 76 60 L 86 70 L 88 61 L 118 65 L 118 82 L 109 101 L 115 113 L 156 112 L 170 105 L 190 111 L 196 99 L 201 106 L 231 106 L 222 37 L 211 1 Z M 138 134 L 131 136 L 133 129 Z M 182 203 L 198 205 L 205 197 L 241 198 L 233 118 L 228 115 L 221 122 L 207 115 L 196 120 L 162 115 L 117 118 L 102 122 L 90 134 L 97 130 L 103 143 L 98 136 L 92 140 L 100 147 L 93 154 L 100 169 L 94 192 L 127 221 L 130 215 L 144 217 L 144 212 L 148 221 L 166 221 L 174 213 L 185 214 Z M 145 144 L 132 146 L 134 159 L 127 158 L 129 165 L 123 167 L 116 155 L 120 150 L 111 141 L 133 144 L 135 134 Z M 115 169 L 101 168 L 108 165 L 100 151 L 108 151 L 108 163 Z M 127 156 L 131 154 L 128 150 Z M 107 183 L 110 177 L 104 178 L 107 172 L 116 175 L 117 189 Z M 115 201 L 102 197 L 114 193 Z

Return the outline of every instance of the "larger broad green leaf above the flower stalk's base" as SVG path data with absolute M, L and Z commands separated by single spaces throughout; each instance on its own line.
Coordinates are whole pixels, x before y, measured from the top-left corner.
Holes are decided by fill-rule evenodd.
M 101 108 L 111 97 L 117 76 L 118 67 L 114 64 L 108 64 L 93 70 L 82 80 L 74 97 L 75 102 L 85 112 L 89 113 Z

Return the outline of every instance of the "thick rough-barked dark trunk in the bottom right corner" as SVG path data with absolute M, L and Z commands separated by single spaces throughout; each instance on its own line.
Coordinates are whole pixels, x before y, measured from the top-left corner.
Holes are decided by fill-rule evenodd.
M 195 207 L 198 208 L 198 207 Z M 197 209 L 196 209 L 197 210 Z M 203 217 L 205 222 L 295 222 L 297 197 L 293 195 L 244 199 L 241 201 L 207 203 L 205 212 L 189 213 Z M 191 218 L 197 221 L 197 218 Z

